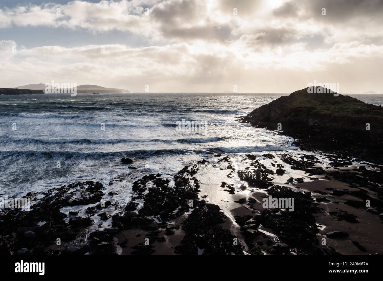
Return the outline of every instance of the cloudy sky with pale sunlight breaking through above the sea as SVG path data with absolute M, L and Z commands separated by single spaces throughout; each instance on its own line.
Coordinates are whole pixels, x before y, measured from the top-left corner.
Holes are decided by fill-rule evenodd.
M 383 0 L 0 0 L 0 87 L 383 92 L 382 15 Z

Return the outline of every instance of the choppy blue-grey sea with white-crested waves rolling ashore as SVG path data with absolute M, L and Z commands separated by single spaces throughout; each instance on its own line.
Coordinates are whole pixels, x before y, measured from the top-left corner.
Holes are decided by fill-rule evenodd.
M 127 202 L 137 177 L 176 173 L 201 157 L 214 158 L 209 152 L 296 150 L 291 138 L 237 121 L 280 95 L 0 95 L 0 193 L 25 195 L 79 180 L 108 186 L 125 176 L 108 189 Z M 383 103 L 383 95 L 352 96 Z M 203 131 L 177 131 L 183 119 L 207 125 Z M 122 157 L 134 163 L 123 164 Z

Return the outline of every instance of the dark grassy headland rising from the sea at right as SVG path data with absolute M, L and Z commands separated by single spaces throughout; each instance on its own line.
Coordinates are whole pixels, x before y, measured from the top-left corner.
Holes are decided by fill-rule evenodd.
M 308 88 L 256 108 L 244 123 L 281 130 L 303 149 L 352 154 L 382 163 L 383 110 L 372 104 L 333 93 L 309 94 Z M 324 92 L 322 88 L 321 92 Z

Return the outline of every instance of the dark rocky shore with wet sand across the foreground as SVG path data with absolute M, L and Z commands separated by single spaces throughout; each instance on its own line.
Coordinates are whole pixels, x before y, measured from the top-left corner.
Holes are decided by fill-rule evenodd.
M 327 154 L 332 166 L 323 169 L 307 151 L 266 152 L 197 161 L 170 175 L 174 185 L 165 175 L 143 176 L 133 183 L 135 196 L 123 212 L 115 211 L 118 201 L 111 192 L 104 194 L 105 187 L 98 182 L 28 194 L 38 202 L 31 211 L 1 212 L 1 252 L 16 254 L 26 248 L 27 254 L 383 253 L 378 235 L 383 230 L 383 177 L 377 165 L 343 167 L 350 159 Z M 291 167 L 291 172 L 276 172 Z M 236 186 L 233 178 L 244 184 Z M 262 199 L 270 195 L 295 198 L 294 212 L 264 209 Z M 363 200 L 370 200 L 373 209 Z M 59 210 L 77 205 L 90 206 L 87 217 Z M 103 223 L 89 233 L 98 217 Z M 331 231 L 344 237 L 327 237 Z M 61 245 L 56 245 L 57 238 Z M 321 245 L 322 238 L 326 245 Z

